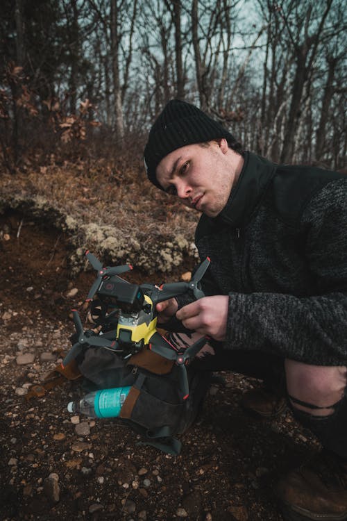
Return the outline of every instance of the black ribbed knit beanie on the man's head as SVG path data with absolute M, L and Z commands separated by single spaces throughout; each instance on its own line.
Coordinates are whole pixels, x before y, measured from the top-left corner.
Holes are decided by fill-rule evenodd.
M 172 99 L 155 120 L 144 149 L 144 166 L 149 180 L 162 189 L 155 176 L 155 169 L 162 158 L 187 144 L 219 138 L 235 142 L 230 132 L 199 108 L 186 101 Z

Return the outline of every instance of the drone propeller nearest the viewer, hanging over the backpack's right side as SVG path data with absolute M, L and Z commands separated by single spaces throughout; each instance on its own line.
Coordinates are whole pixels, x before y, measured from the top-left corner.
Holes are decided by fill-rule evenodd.
M 198 354 L 207 340 L 207 336 L 202 336 L 187 349 L 178 350 L 169 342 L 169 340 L 167 340 L 167 338 L 164 338 L 159 333 L 154 333 L 151 337 L 149 349 L 151 349 L 151 351 L 154 353 L 164 356 L 164 358 L 167 358 L 168 360 L 173 360 L 180 368 L 180 381 L 184 400 L 189 396 L 189 383 L 185 364 L 189 358 L 194 358 L 194 356 Z

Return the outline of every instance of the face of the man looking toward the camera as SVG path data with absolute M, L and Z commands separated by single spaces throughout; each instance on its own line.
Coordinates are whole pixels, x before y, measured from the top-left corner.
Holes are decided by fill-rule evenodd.
M 156 169 L 164 190 L 180 201 L 216 217 L 228 201 L 237 180 L 226 140 L 189 144 L 165 156 Z

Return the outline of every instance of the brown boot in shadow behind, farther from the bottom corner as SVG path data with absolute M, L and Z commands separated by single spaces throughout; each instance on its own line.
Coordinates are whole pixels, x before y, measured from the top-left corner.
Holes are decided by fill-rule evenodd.
M 285 410 L 286 399 L 282 392 L 273 392 L 265 387 L 257 387 L 244 393 L 240 405 L 248 413 L 270 419 Z

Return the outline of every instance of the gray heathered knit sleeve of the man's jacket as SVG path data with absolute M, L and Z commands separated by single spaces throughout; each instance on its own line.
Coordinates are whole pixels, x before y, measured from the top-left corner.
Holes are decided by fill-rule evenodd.
M 347 178 L 306 204 L 305 261 L 314 295 L 229 294 L 227 349 L 259 349 L 314 365 L 347 365 Z

